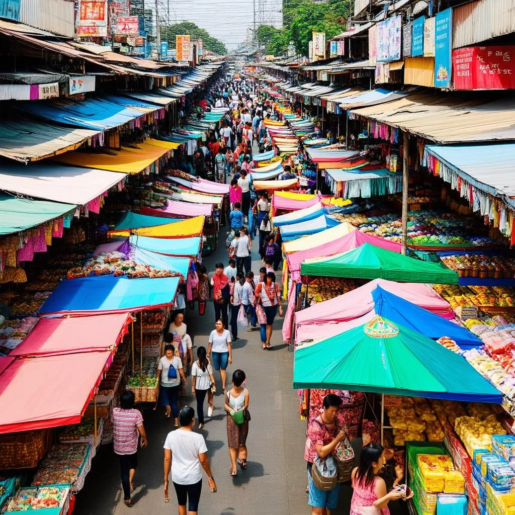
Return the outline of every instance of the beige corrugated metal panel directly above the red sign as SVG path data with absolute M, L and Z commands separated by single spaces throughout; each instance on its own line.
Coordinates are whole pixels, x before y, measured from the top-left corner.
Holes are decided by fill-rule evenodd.
M 515 0 L 476 0 L 455 7 L 453 48 L 515 32 Z

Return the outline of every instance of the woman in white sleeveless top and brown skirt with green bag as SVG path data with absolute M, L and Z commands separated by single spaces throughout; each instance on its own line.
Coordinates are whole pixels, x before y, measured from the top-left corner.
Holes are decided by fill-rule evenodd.
M 235 370 L 232 374 L 233 387 L 226 392 L 225 409 L 227 411 L 227 440 L 231 457 L 231 476 L 237 474 L 236 460 L 242 470 L 247 468 L 247 435 L 249 433 L 249 391 L 243 385 L 245 372 Z M 242 414 L 236 415 L 243 410 Z M 238 420 L 235 420 L 238 419 Z

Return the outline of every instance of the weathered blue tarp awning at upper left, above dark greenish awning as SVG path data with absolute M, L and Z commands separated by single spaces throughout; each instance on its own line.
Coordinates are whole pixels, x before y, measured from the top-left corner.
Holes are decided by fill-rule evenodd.
M 125 107 L 103 98 L 87 98 L 81 102 L 63 99 L 16 102 L 14 107 L 53 122 L 97 130 L 114 129 L 145 115 L 141 110 Z M 156 106 L 153 107 L 159 109 Z

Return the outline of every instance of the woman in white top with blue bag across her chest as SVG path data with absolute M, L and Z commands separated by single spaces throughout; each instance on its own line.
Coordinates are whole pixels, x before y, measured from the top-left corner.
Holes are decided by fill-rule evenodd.
M 182 361 L 179 356 L 174 356 L 175 348 L 168 344 L 164 347 L 164 356 L 161 357 L 158 364 L 158 381 L 161 386 L 161 404 L 165 407 L 165 417 L 174 416 L 174 427 L 178 427 L 177 417 L 179 409 L 177 403 L 179 401 L 179 387 L 181 377 L 186 383 L 186 376 L 182 370 Z

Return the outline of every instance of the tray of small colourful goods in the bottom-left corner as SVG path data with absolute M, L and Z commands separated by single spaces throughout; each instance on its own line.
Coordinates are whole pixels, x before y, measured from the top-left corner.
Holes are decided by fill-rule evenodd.
M 70 487 L 52 485 L 20 488 L 7 503 L 5 511 L 32 511 L 44 508 L 63 508 L 66 513 Z

